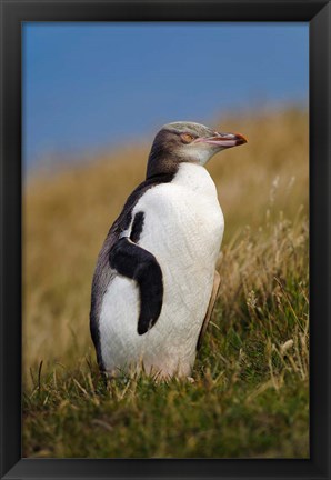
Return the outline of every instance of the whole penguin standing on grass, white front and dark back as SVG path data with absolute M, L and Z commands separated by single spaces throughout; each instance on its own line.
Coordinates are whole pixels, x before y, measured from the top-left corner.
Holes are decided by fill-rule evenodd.
M 224 230 L 204 167 L 245 142 L 188 121 L 157 133 L 146 180 L 110 228 L 92 280 L 90 331 L 109 378 L 191 376 L 220 283 Z

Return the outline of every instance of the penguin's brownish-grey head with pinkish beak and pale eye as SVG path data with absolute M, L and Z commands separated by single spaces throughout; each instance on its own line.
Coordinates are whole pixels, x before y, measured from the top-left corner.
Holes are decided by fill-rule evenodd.
M 167 123 L 154 138 L 148 177 L 175 171 L 181 162 L 204 166 L 219 151 L 243 143 L 247 139 L 241 133 L 218 132 L 189 121 Z

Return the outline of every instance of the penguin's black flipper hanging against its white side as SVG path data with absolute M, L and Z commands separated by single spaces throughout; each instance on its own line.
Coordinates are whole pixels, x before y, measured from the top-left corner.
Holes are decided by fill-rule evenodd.
M 138 333 L 146 333 L 153 327 L 162 309 L 162 270 L 156 257 L 124 237 L 112 247 L 109 263 L 121 276 L 137 281 L 140 291 Z

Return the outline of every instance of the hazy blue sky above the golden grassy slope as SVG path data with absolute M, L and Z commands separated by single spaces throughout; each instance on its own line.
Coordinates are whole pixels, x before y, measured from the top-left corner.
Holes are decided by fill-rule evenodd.
M 307 104 L 308 42 L 308 23 L 24 23 L 23 160 Z

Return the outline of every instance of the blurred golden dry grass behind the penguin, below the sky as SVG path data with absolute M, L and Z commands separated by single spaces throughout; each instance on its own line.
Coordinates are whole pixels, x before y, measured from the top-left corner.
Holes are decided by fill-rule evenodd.
M 280 271 L 284 278 L 287 256 L 295 254 L 289 246 L 293 237 L 289 222 L 297 224 L 293 242 L 304 241 L 308 114 L 299 109 L 247 113 L 213 127 L 240 131 L 249 139 L 247 146 L 219 154 L 208 166 L 225 218 L 220 298 L 231 323 L 238 314 L 235 298 L 243 286 L 248 296 L 270 289 L 277 296 L 281 289 L 271 279 Z M 27 381 L 30 368 L 36 369 L 41 360 L 46 367 L 54 362 L 73 367 L 78 358 L 93 354 L 88 322 L 97 254 L 126 198 L 144 178 L 151 141 L 52 174 L 36 173 L 24 186 Z M 298 214 L 300 220 L 295 220 Z M 265 242 L 268 248 L 263 250 Z M 261 284 L 265 288 L 259 288 Z

